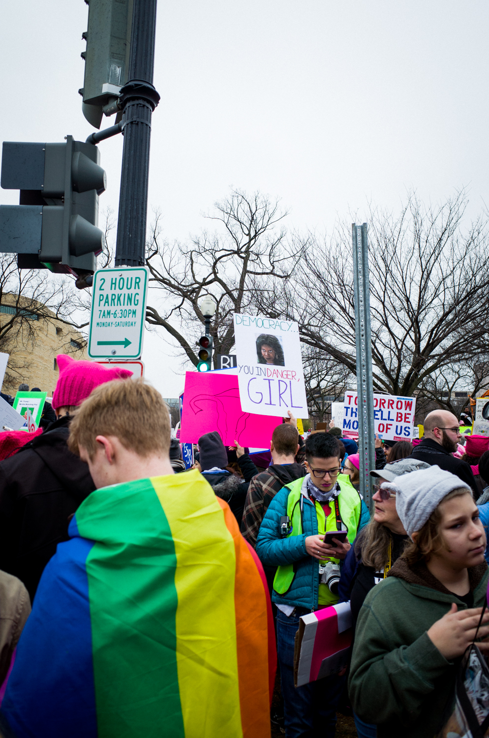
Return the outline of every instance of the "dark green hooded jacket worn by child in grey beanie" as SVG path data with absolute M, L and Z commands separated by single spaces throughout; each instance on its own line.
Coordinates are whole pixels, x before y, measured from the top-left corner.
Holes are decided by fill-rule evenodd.
M 488 565 L 468 570 L 474 607 L 488 588 Z M 425 565 L 398 559 L 384 582 L 367 594 L 358 615 L 348 694 L 378 738 L 433 738 L 451 711 L 460 659 L 447 661 L 427 630 L 451 603 L 467 605 Z

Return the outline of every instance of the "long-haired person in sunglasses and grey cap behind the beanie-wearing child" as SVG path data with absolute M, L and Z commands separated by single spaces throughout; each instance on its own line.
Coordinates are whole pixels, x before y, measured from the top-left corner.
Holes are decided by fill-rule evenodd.
M 401 459 L 386 464 L 381 471 L 370 472 L 376 482 L 375 494 L 372 497 L 375 503 L 374 514 L 348 551 L 341 568 L 338 586 L 340 601 L 350 601 L 353 628 L 356 627 L 358 613 L 367 594 L 375 584 L 385 579 L 389 569 L 402 554 L 408 539 L 395 508 L 395 494 L 382 489 L 381 484 L 386 481 L 393 482 L 400 475 L 414 472 L 416 469 L 429 469 L 429 464 L 413 459 Z M 357 714 L 353 717 L 358 738 L 375 738 L 377 735 L 375 725 L 364 723 Z

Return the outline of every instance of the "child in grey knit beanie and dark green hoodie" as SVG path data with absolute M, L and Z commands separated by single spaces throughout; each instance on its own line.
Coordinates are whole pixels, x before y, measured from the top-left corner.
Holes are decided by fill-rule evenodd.
M 384 482 L 410 540 L 370 590 L 355 632 L 348 692 L 378 738 L 433 738 L 454 699 L 488 588 L 485 534 L 471 488 L 430 466 Z M 485 613 L 479 637 L 489 635 Z M 483 653 L 489 643 L 478 644 Z

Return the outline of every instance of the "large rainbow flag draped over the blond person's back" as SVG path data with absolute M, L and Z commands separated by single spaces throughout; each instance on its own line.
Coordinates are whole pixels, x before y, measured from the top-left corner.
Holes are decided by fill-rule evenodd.
M 196 471 L 96 490 L 41 579 L 2 713 L 18 738 L 268 738 L 266 580 Z

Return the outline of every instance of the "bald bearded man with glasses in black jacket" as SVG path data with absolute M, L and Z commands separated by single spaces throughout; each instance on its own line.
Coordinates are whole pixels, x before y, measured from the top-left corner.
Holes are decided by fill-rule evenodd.
M 468 484 L 477 497 L 479 492 L 471 467 L 465 461 L 452 456 L 452 453 L 457 451 L 459 439 L 462 438 L 456 416 L 448 410 L 432 410 L 426 415 L 423 426 L 425 430 L 423 441 L 415 446 L 412 458 L 426 461 L 430 466 L 436 464 L 440 469 L 446 469 Z

